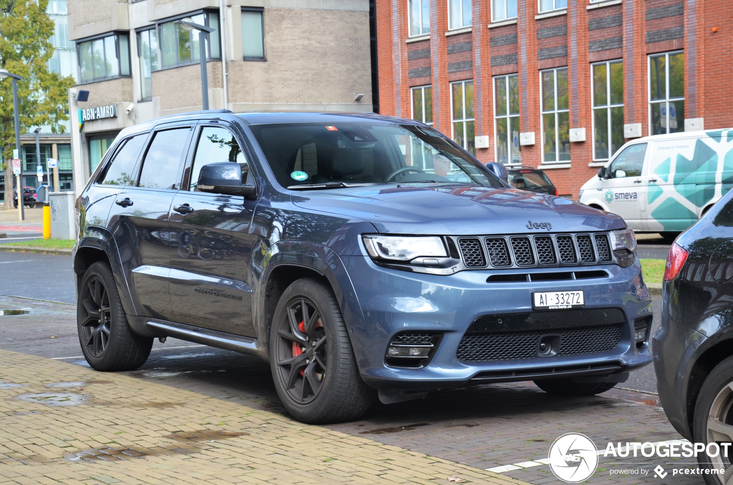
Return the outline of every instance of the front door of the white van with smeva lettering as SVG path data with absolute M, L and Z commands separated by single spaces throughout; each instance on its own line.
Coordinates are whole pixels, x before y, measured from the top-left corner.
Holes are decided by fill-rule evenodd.
M 644 229 L 646 184 L 642 177 L 647 144 L 629 145 L 608 166 L 608 179 L 603 182 L 603 200 L 608 211 L 624 218 L 632 229 Z

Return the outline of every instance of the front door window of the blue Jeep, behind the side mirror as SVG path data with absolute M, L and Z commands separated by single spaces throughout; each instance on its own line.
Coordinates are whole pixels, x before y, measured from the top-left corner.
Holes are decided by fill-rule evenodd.
M 246 183 L 249 165 L 237 143 L 237 138 L 226 128 L 205 126 L 201 129 L 199 143 L 196 145 L 196 155 L 194 155 L 194 165 L 191 169 L 188 190 L 196 189 L 201 167 L 216 162 L 239 163 L 242 169 L 242 183 Z

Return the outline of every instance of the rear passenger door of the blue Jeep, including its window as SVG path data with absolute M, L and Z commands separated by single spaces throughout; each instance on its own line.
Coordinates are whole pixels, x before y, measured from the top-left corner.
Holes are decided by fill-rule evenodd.
M 154 130 L 134 182 L 120 190 L 110 211 L 109 227 L 140 316 L 174 319 L 168 289 L 168 212 L 191 130 L 190 124 Z

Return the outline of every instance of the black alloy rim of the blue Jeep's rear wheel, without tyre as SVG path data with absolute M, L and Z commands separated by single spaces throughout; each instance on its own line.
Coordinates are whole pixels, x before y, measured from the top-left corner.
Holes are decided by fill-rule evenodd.
M 111 314 L 104 282 L 92 276 L 81 289 L 81 338 L 92 357 L 99 358 L 109 343 Z

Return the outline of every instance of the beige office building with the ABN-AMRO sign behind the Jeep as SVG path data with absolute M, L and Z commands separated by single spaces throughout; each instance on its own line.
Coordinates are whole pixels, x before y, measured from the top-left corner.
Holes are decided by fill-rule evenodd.
M 214 29 L 210 109 L 373 109 L 369 0 L 70 0 L 84 180 L 123 127 L 202 109 L 198 32 L 182 18 Z

